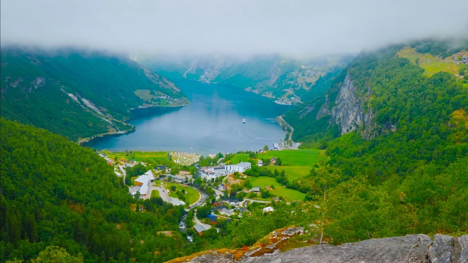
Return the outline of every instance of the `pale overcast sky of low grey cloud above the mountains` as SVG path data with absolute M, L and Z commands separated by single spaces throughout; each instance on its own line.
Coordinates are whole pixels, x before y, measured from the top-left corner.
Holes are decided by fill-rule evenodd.
M 5 44 L 124 52 L 359 52 L 468 36 L 468 0 L 1 0 Z

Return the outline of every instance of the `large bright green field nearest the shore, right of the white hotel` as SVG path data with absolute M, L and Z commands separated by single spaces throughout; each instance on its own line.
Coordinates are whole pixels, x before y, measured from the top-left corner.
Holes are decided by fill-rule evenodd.
M 290 166 L 310 166 L 318 163 L 320 160 L 326 159 L 323 150 L 315 149 L 299 149 L 299 150 L 269 150 L 265 153 L 259 153 L 257 156 L 260 159 L 281 158 L 283 165 Z

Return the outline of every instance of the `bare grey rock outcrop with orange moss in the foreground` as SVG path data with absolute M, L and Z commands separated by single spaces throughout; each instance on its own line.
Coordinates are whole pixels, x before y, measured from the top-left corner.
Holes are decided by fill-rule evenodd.
M 289 231 L 285 229 L 283 231 Z M 298 230 L 292 230 L 297 233 Z M 284 235 L 282 233 L 282 235 Z M 281 240 L 281 239 L 280 239 Z M 279 242 L 281 243 L 281 242 Z M 468 263 L 468 235 L 407 235 L 342 245 L 320 244 L 281 252 L 275 244 L 242 250 L 210 250 L 171 262 L 190 263 Z M 258 253 L 263 250 L 263 253 Z

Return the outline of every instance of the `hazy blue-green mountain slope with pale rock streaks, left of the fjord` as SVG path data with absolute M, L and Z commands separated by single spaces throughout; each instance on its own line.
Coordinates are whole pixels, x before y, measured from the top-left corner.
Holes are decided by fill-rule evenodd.
M 117 56 L 2 48 L 0 58 L 1 116 L 74 140 L 132 129 L 132 108 L 188 103 L 166 78 Z

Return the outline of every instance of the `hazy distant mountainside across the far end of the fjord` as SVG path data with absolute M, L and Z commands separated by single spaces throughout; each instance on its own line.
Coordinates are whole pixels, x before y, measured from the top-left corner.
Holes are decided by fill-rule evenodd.
M 323 93 L 325 89 L 311 90 L 315 81 L 327 73 L 336 74 L 349 60 L 349 56 L 299 60 L 269 55 L 247 59 L 215 56 L 170 61 L 148 57 L 141 63 L 173 77 L 231 85 L 292 103 L 288 99 L 297 99 L 309 91 L 312 94 Z

